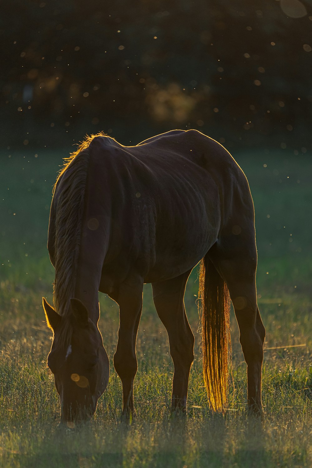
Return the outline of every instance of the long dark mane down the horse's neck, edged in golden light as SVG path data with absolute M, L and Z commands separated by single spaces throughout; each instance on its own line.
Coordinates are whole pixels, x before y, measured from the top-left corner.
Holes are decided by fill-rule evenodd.
M 62 316 L 58 342 L 70 344 L 73 327 L 70 320 L 70 300 L 75 297 L 77 268 L 80 253 L 82 219 L 89 167 L 90 143 L 104 133 L 87 136 L 70 157 L 64 159 L 53 188 L 55 211 L 55 245 L 53 304 Z M 68 171 L 70 169 L 70 171 Z

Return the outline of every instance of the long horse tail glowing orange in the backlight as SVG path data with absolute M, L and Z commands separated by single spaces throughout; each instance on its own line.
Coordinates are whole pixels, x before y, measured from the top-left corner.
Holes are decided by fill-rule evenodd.
M 200 265 L 198 297 L 202 314 L 203 380 L 210 408 L 224 412 L 231 350 L 230 295 L 208 254 Z

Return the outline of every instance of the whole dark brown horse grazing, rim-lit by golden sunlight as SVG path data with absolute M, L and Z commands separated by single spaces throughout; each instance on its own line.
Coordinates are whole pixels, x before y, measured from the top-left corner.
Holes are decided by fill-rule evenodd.
M 184 307 L 189 274 L 201 261 L 203 379 L 210 408 L 225 409 L 232 300 L 247 363 L 248 405 L 261 412 L 265 329 L 257 307 L 254 205 L 232 156 L 196 130 L 174 130 L 123 146 L 88 137 L 66 160 L 51 204 L 48 249 L 54 307 L 44 300 L 53 342 L 48 366 L 61 421 L 90 418 L 109 380 L 97 327 L 98 292 L 119 305 L 114 367 L 123 415 L 134 414 L 136 338 L 144 283 L 174 362 L 172 408 L 186 409 L 194 335 Z

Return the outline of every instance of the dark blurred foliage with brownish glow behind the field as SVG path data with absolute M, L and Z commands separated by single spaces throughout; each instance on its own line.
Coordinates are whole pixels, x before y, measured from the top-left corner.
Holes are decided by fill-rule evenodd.
M 11 0 L 4 143 L 124 144 L 174 127 L 226 147 L 311 149 L 312 1 Z M 131 137 L 130 137 L 131 135 Z

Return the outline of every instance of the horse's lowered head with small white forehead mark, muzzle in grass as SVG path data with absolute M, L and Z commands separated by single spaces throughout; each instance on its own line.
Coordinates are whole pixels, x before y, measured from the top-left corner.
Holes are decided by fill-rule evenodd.
M 109 380 L 109 358 L 87 308 L 71 299 L 66 316 L 43 299 L 47 325 L 53 330 L 48 367 L 61 402 L 61 423 L 73 427 L 89 420 Z

